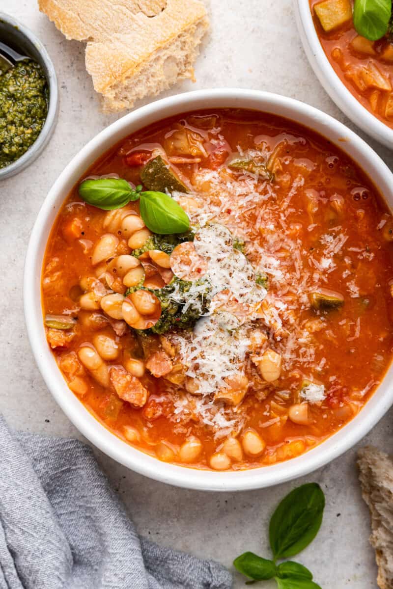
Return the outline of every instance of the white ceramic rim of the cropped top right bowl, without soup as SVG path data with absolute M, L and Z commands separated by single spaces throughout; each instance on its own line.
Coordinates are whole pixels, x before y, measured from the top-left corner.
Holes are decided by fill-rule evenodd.
M 374 117 L 346 88 L 323 51 L 312 20 L 309 0 L 295 0 L 295 16 L 308 61 L 323 88 L 342 112 L 379 143 L 393 147 L 393 129 Z

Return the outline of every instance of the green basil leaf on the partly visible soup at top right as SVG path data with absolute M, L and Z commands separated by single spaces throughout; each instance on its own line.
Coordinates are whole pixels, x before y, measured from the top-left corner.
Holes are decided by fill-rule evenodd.
M 387 33 L 391 14 L 391 0 L 355 0 L 355 29 L 362 37 L 377 41 Z

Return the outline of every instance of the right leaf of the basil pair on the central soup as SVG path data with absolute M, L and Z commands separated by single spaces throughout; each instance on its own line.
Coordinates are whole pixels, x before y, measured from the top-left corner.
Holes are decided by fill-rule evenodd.
M 153 233 L 183 233 L 190 227 L 186 211 L 168 194 L 148 190 L 140 193 L 140 213 Z

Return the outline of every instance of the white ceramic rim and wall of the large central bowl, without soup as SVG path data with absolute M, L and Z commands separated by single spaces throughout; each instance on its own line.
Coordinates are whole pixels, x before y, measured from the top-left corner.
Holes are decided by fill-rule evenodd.
M 98 156 L 126 135 L 165 117 L 198 108 L 242 107 L 282 115 L 312 128 L 338 145 L 373 178 L 393 209 L 393 175 L 355 133 L 316 108 L 292 98 L 255 90 L 202 90 L 158 100 L 111 124 L 75 155 L 55 181 L 31 233 L 24 274 L 27 330 L 39 370 L 52 395 L 72 423 L 95 446 L 124 466 L 179 487 L 238 491 L 268 487 L 300 477 L 351 448 L 381 419 L 393 402 L 393 368 L 365 408 L 344 428 L 306 454 L 282 464 L 240 472 L 201 471 L 158 461 L 132 448 L 94 419 L 70 391 L 45 339 L 41 308 L 41 269 L 49 232 L 72 186 Z

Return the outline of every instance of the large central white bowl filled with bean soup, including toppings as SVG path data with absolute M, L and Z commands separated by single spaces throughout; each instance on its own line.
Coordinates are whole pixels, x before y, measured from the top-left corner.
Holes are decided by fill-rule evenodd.
M 103 131 L 26 265 L 33 349 L 75 425 L 194 488 L 263 487 L 348 448 L 391 403 L 389 176 L 341 124 L 262 92 L 181 95 Z

